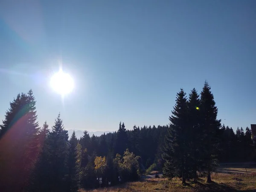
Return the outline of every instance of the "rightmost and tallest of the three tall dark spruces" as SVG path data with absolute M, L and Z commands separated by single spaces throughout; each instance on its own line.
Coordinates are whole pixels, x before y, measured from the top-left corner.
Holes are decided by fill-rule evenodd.
M 211 182 L 211 172 L 216 165 L 216 154 L 218 149 L 217 134 L 221 120 L 217 120 L 218 109 L 215 106 L 211 87 L 205 81 L 201 92 L 201 126 L 204 134 L 204 160 L 208 172 L 207 182 Z

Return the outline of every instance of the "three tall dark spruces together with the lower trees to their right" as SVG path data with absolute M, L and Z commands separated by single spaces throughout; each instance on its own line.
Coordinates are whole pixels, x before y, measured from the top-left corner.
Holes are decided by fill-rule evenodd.
M 170 127 L 165 138 L 162 157 L 165 160 L 163 173 L 166 177 L 181 177 L 197 180 L 198 172 L 207 174 L 211 182 L 211 172 L 219 161 L 248 161 L 255 159 L 255 147 L 251 131 L 221 127 L 217 119 L 211 87 L 205 82 L 201 94 L 195 88 L 188 98 L 183 89 L 177 93 L 176 104 L 169 117 Z

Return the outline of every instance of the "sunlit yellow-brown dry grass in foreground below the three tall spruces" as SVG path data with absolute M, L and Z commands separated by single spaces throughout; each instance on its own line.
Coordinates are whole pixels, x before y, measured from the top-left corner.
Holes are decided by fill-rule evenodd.
M 204 192 L 204 191 L 247 191 L 256 189 L 256 173 L 250 174 L 224 174 L 213 173 L 212 183 L 206 183 L 206 178 L 199 182 L 188 181 L 186 186 L 181 185 L 178 178 L 150 178 L 142 181 L 125 183 L 107 189 L 94 189 L 90 192 Z M 80 190 L 79 192 L 86 192 Z

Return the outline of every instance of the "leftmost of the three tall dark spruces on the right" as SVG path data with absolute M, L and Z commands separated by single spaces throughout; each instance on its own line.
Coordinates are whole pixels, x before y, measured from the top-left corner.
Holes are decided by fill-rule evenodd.
M 182 177 L 182 183 L 186 183 L 189 175 L 188 167 L 188 109 L 186 93 L 183 89 L 177 93 L 176 104 L 169 117 L 170 128 L 163 148 L 164 163 L 163 173 L 169 178 Z

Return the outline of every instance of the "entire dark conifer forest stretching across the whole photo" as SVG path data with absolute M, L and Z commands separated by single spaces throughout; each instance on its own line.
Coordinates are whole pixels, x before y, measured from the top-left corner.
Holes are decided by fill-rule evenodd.
M 200 94 L 180 89 L 175 102 L 169 125 L 117 122 L 114 133 L 90 137 L 84 131 L 76 138 L 75 132 L 68 136 L 60 113 L 51 129 L 47 121 L 39 125 L 32 90 L 19 93 L 0 125 L 0 191 L 75 192 L 98 188 L 99 178 L 102 186 L 114 186 L 154 170 L 183 184 L 199 173 L 211 182 L 218 163 L 256 161 L 250 128 L 221 125 L 207 81 Z

